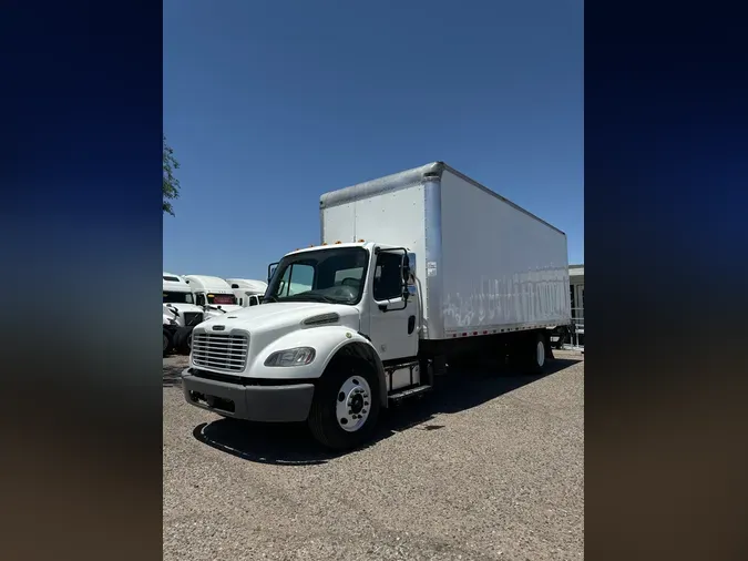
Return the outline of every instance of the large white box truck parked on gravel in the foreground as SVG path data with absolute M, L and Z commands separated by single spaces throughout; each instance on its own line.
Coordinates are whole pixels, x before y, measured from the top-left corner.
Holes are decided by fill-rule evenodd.
M 460 356 L 540 373 L 571 323 L 565 234 L 444 163 L 325 194 L 320 221 L 262 306 L 195 328 L 187 402 L 351 448 Z

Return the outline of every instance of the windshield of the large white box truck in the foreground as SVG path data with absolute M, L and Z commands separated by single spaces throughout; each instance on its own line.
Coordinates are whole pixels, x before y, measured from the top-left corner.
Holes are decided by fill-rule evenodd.
M 358 304 L 368 261 L 369 252 L 361 247 L 320 249 L 284 257 L 267 287 L 265 303 Z

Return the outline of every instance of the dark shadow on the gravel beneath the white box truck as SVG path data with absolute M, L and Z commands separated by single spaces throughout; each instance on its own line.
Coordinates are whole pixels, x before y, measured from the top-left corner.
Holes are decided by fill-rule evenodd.
M 257 463 L 276 466 L 314 466 L 376 446 L 404 430 L 439 430 L 439 414 L 453 414 L 478 407 L 491 399 L 556 374 L 578 359 L 557 358 L 540 376 L 518 375 L 488 365 L 452 373 L 439 379 L 437 389 L 386 411 L 379 419 L 373 438 L 357 450 L 330 452 L 312 440 L 306 424 L 259 424 L 218 419 L 195 427 L 193 436 L 204 445 Z

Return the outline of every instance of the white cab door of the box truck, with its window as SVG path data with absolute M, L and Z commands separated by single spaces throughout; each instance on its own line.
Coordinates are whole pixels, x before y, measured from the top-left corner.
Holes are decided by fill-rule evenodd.
M 382 360 L 418 355 L 418 302 L 406 298 L 403 265 L 407 251 L 380 249 L 376 255 L 372 289 L 369 290 L 371 344 Z M 406 269 L 407 273 L 407 269 Z

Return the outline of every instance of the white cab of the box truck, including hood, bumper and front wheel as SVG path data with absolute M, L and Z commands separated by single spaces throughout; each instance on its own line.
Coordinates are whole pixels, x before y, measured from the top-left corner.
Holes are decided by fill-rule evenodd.
M 309 420 L 322 443 L 355 446 L 391 397 L 422 386 L 411 263 L 404 247 L 365 242 L 287 254 L 262 306 L 194 330 L 186 399 L 226 417 Z

